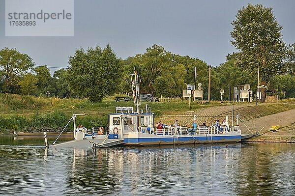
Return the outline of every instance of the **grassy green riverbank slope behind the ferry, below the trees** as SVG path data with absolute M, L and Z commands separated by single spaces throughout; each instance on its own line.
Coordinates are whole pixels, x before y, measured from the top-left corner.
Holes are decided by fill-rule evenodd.
M 117 95 L 118 96 L 118 95 Z M 121 96 L 121 95 L 120 95 Z M 145 111 L 145 102 L 140 109 Z M 210 104 L 191 103 L 191 111 L 198 111 L 208 107 L 233 105 L 234 103 L 212 102 Z M 107 126 L 108 114 L 115 112 L 116 106 L 132 106 L 133 102 L 115 102 L 115 96 L 105 98 L 101 103 L 91 103 L 87 99 L 59 99 L 20 96 L 0 93 L 0 132 L 11 131 L 60 131 L 71 118 L 72 113 L 84 113 L 79 116 L 77 124 L 85 127 Z M 256 118 L 272 113 L 283 112 L 295 108 L 295 99 L 281 100 L 275 103 L 260 104 L 240 103 L 244 105 L 240 113 L 245 119 Z M 187 100 L 164 103 L 148 103 L 148 107 L 155 112 L 156 119 L 166 115 L 187 113 L 189 104 Z M 213 116 L 211 116 L 213 117 Z M 171 121 L 171 120 L 169 120 Z M 72 124 L 68 131 L 72 130 Z

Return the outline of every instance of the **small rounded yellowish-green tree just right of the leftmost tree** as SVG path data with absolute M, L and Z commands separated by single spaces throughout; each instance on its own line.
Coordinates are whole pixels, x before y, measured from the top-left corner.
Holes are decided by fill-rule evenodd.
M 24 95 L 32 95 L 36 92 L 37 90 L 37 83 L 38 83 L 38 78 L 29 73 L 26 74 L 22 80 L 19 82 L 19 85 L 21 86 L 21 92 Z

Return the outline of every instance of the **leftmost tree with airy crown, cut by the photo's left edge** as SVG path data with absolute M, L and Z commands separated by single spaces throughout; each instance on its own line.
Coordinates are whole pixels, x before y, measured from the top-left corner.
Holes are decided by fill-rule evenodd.
M 3 81 L 3 91 L 15 93 L 20 78 L 34 65 L 31 57 L 16 49 L 4 48 L 0 51 L 0 79 Z

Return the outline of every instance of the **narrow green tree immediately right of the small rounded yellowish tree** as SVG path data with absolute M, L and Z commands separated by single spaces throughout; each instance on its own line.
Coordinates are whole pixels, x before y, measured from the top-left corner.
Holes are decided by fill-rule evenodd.
M 34 68 L 36 72 L 36 77 L 38 79 L 38 94 L 45 94 L 49 90 L 48 86 L 52 83 L 52 78 L 50 76 L 50 70 L 47 68 L 47 65 L 41 65 Z

